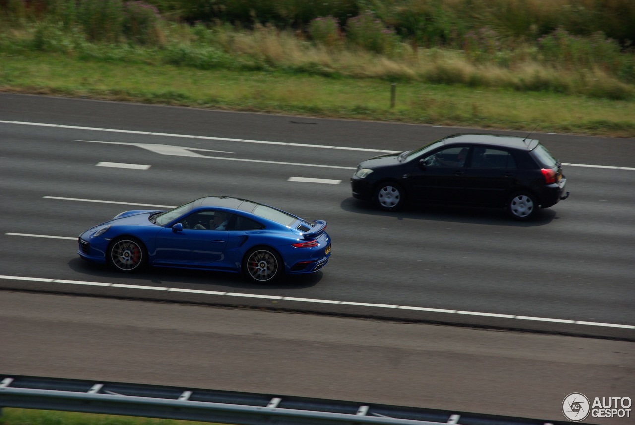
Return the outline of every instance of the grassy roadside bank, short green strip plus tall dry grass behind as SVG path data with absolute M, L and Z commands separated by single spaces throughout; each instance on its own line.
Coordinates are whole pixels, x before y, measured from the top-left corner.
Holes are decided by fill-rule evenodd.
M 544 1 L 523 4 L 558 3 Z M 635 137 L 635 55 L 600 33 L 558 29 L 531 40 L 486 27 L 421 47 L 368 14 L 358 16 L 366 21 L 357 32 L 349 20 L 344 36 L 328 19 L 298 33 L 192 27 L 156 12 L 142 19 L 142 32 L 110 25 L 100 33 L 94 16 L 82 23 L 81 10 L 56 13 L 4 16 L 1 91 Z

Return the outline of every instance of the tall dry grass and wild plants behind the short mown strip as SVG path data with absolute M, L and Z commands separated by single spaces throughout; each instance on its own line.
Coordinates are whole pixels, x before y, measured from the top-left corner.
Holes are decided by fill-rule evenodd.
M 22 4 L 22 9 L 0 11 L 10 23 L 0 27 L 0 51 L 37 49 L 84 60 L 201 70 L 266 70 L 620 100 L 635 97 L 635 54 L 603 32 L 589 32 L 612 23 L 620 10 L 623 15 L 635 10 L 624 0 L 578 0 L 574 6 L 565 0 L 360 1 L 358 6 L 373 13 L 349 18 L 351 34 L 333 25 L 339 21 L 331 18 L 315 39 L 310 32 L 258 22 L 251 29 L 220 21 L 170 22 L 142 2 L 48 0 L 40 2 L 50 5 L 48 13 L 37 15 L 28 13 L 27 5 L 38 2 L 20 1 L 11 4 Z M 230 8 L 238 3 L 218 4 Z M 599 14 L 599 4 L 611 13 Z M 562 25 L 589 34 L 577 35 Z M 399 30 L 405 31 L 401 39 L 396 36 Z

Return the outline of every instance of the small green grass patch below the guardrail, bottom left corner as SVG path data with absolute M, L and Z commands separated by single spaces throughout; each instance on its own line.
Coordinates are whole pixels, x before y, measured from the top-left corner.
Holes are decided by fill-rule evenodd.
M 0 425 L 210 425 L 213 422 L 175 421 L 136 416 L 102 415 L 58 410 L 4 407 Z

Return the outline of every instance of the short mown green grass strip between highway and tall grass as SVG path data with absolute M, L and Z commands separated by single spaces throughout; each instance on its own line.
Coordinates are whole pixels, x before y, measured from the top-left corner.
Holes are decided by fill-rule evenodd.
M 635 137 L 635 102 L 506 88 L 0 53 L 0 91 L 483 129 Z

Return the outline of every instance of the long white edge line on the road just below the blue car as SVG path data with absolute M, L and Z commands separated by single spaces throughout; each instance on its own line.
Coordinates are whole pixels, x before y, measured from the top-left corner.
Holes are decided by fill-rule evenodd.
M 416 311 L 425 311 L 430 313 L 448 313 L 448 314 L 472 315 L 472 316 L 479 316 L 479 317 L 485 316 L 485 317 L 496 317 L 496 318 L 512 318 L 516 320 L 535 320 L 540 322 L 552 322 L 552 323 L 560 323 L 560 324 L 589 325 L 589 326 L 611 327 L 611 328 L 620 328 L 620 329 L 635 329 L 635 326 L 633 325 L 620 325 L 620 324 L 609 324 L 609 323 L 600 323 L 600 322 L 584 322 L 580 320 L 562 320 L 562 319 L 553 319 L 553 318 L 546 318 L 546 317 L 500 315 L 495 313 L 479 313 L 478 311 L 440 310 L 438 308 L 396 306 L 391 304 L 356 303 L 353 301 L 338 301 L 334 299 L 296 298 L 296 297 L 286 297 L 286 296 L 279 296 L 279 295 L 247 294 L 244 292 L 205 291 L 203 289 L 185 289 L 185 288 L 172 288 L 172 287 L 164 287 L 164 286 L 111 284 L 107 282 L 48 279 L 48 278 L 23 277 L 23 276 L 0 275 L 0 279 L 22 280 L 27 282 L 48 282 L 51 284 L 75 284 L 75 285 L 95 285 L 95 286 L 102 286 L 102 287 L 123 287 L 128 289 L 139 289 L 142 291 L 192 292 L 196 294 L 206 294 L 206 295 L 276 299 L 276 300 L 286 300 L 286 301 L 304 301 L 306 303 L 317 303 L 317 304 L 344 304 L 344 305 L 366 306 L 366 307 L 374 307 L 374 308 L 390 308 L 390 309 L 396 309 L 396 310 L 416 310 Z

